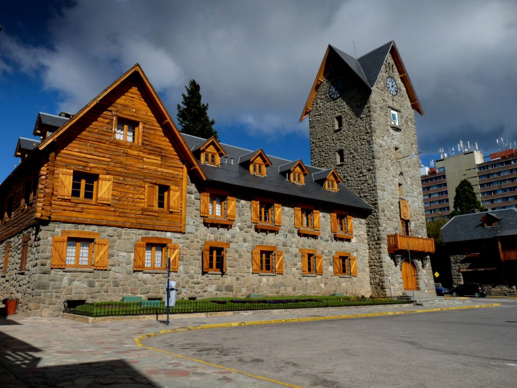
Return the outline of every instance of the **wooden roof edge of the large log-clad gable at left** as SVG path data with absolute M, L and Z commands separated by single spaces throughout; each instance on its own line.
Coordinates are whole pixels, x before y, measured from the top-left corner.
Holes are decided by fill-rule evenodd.
M 104 89 L 97 97 L 95 97 L 92 101 L 90 101 L 83 109 L 81 109 L 77 114 L 75 114 L 70 120 L 68 120 L 65 124 L 63 124 L 59 129 L 57 129 L 52 136 L 43 140 L 41 144 L 38 146 L 39 150 L 43 150 L 49 144 L 51 144 L 55 139 L 57 139 L 63 132 L 65 132 L 70 126 L 74 125 L 74 123 L 78 122 L 90 109 L 92 109 L 98 102 L 100 102 L 104 97 L 109 95 L 116 87 L 118 87 L 121 83 L 126 81 L 129 77 L 136 77 L 136 80 L 139 81 L 139 86 L 143 88 L 143 95 L 145 96 L 147 102 L 155 108 L 155 113 L 158 115 L 157 120 L 160 125 L 168 130 L 172 139 L 176 142 L 177 152 L 180 155 L 181 159 L 187 166 L 188 171 L 193 171 L 198 177 L 202 179 L 206 179 L 206 175 L 201 169 L 199 163 L 195 159 L 194 155 L 190 151 L 187 143 L 181 137 L 180 132 L 176 125 L 174 124 L 172 117 L 169 115 L 169 112 L 165 109 L 163 102 L 160 97 L 156 93 L 154 87 L 150 84 L 147 79 L 144 71 L 137 63 L 133 67 L 131 67 L 128 71 L 126 71 L 122 76 L 120 76 L 115 82 L 113 82 L 110 86 Z

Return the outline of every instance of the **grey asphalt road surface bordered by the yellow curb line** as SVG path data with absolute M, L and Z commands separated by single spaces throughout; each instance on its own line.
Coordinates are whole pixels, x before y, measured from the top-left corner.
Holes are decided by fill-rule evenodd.
M 145 345 L 302 387 L 517 386 L 517 300 L 500 307 L 163 334 Z

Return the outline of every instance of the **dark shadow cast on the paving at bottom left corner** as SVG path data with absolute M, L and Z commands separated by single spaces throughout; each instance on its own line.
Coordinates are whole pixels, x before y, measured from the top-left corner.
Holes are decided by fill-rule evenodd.
M 38 366 L 38 353 L 43 350 L 1 332 L 0 344 L 0 385 L 5 387 L 159 386 L 124 360 Z M 70 351 L 70 358 L 73 357 Z

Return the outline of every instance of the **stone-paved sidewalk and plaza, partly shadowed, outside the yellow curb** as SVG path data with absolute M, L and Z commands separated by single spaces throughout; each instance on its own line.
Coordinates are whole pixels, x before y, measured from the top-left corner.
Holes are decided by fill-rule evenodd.
M 177 357 L 145 347 L 145 335 L 180 327 L 336 316 L 403 314 L 434 308 L 483 305 L 370 306 L 332 309 L 261 311 L 260 314 L 208 316 L 163 321 L 83 323 L 23 314 L 0 318 L 0 386 L 18 387 L 181 387 L 270 388 L 279 382 Z M 485 302 L 486 304 L 486 302 Z M 171 316 L 171 318 L 174 318 Z M 335 319 L 335 318 L 334 318 Z M 181 335 L 167 333 L 163 335 Z M 138 339 L 140 338 L 140 340 Z M 139 346 L 139 343 L 143 346 Z M 179 352 L 178 352 L 179 353 Z M 283 384 L 283 386 L 292 386 Z

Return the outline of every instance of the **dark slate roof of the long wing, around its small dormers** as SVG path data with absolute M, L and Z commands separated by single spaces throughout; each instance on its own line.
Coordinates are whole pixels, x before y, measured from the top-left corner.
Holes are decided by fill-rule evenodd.
M 194 150 L 206 139 L 198 138 L 181 133 L 191 150 Z M 267 175 L 257 176 L 250 174 L 248 169 L 238 163 L 239 157 L 248 155 L 251 151 L 235 147 L 229 144 L 221 144 L 226 150 L 226 155 L 221 156 L 220 167 L 201 165 L 207 176 L 208 182 L 217 182 L 221 185 L 232 185 L 234 187 L 245 187 L 252 190 L 260 190 L 269 195 L 278 197 L 285 195 L 292 197 L 295 201 L 307 202 L 311 200 L 327 202 L 330 205 L 352 207 L 358 211 L 370 212 L 372 207 L 346 188 L 338 184 L 339 191 L 325 190 L 321 184 L 314 182 L 312 174 L 324 171 L 312 166 L 305 166 L 309 175 L 305 178 L 305 185 L 297 185 L 289 182 L 285 174 L 281 174 L 279 167 L 285 171 L 286 166 L 294 166 L 298 160 L 290 161 L 282 158 L 267 155 L 272 165 L 267 167 Z M 233 159 L 233 164 L 232 164 Z M 263 194 L 264 195 L 264 194 Z

